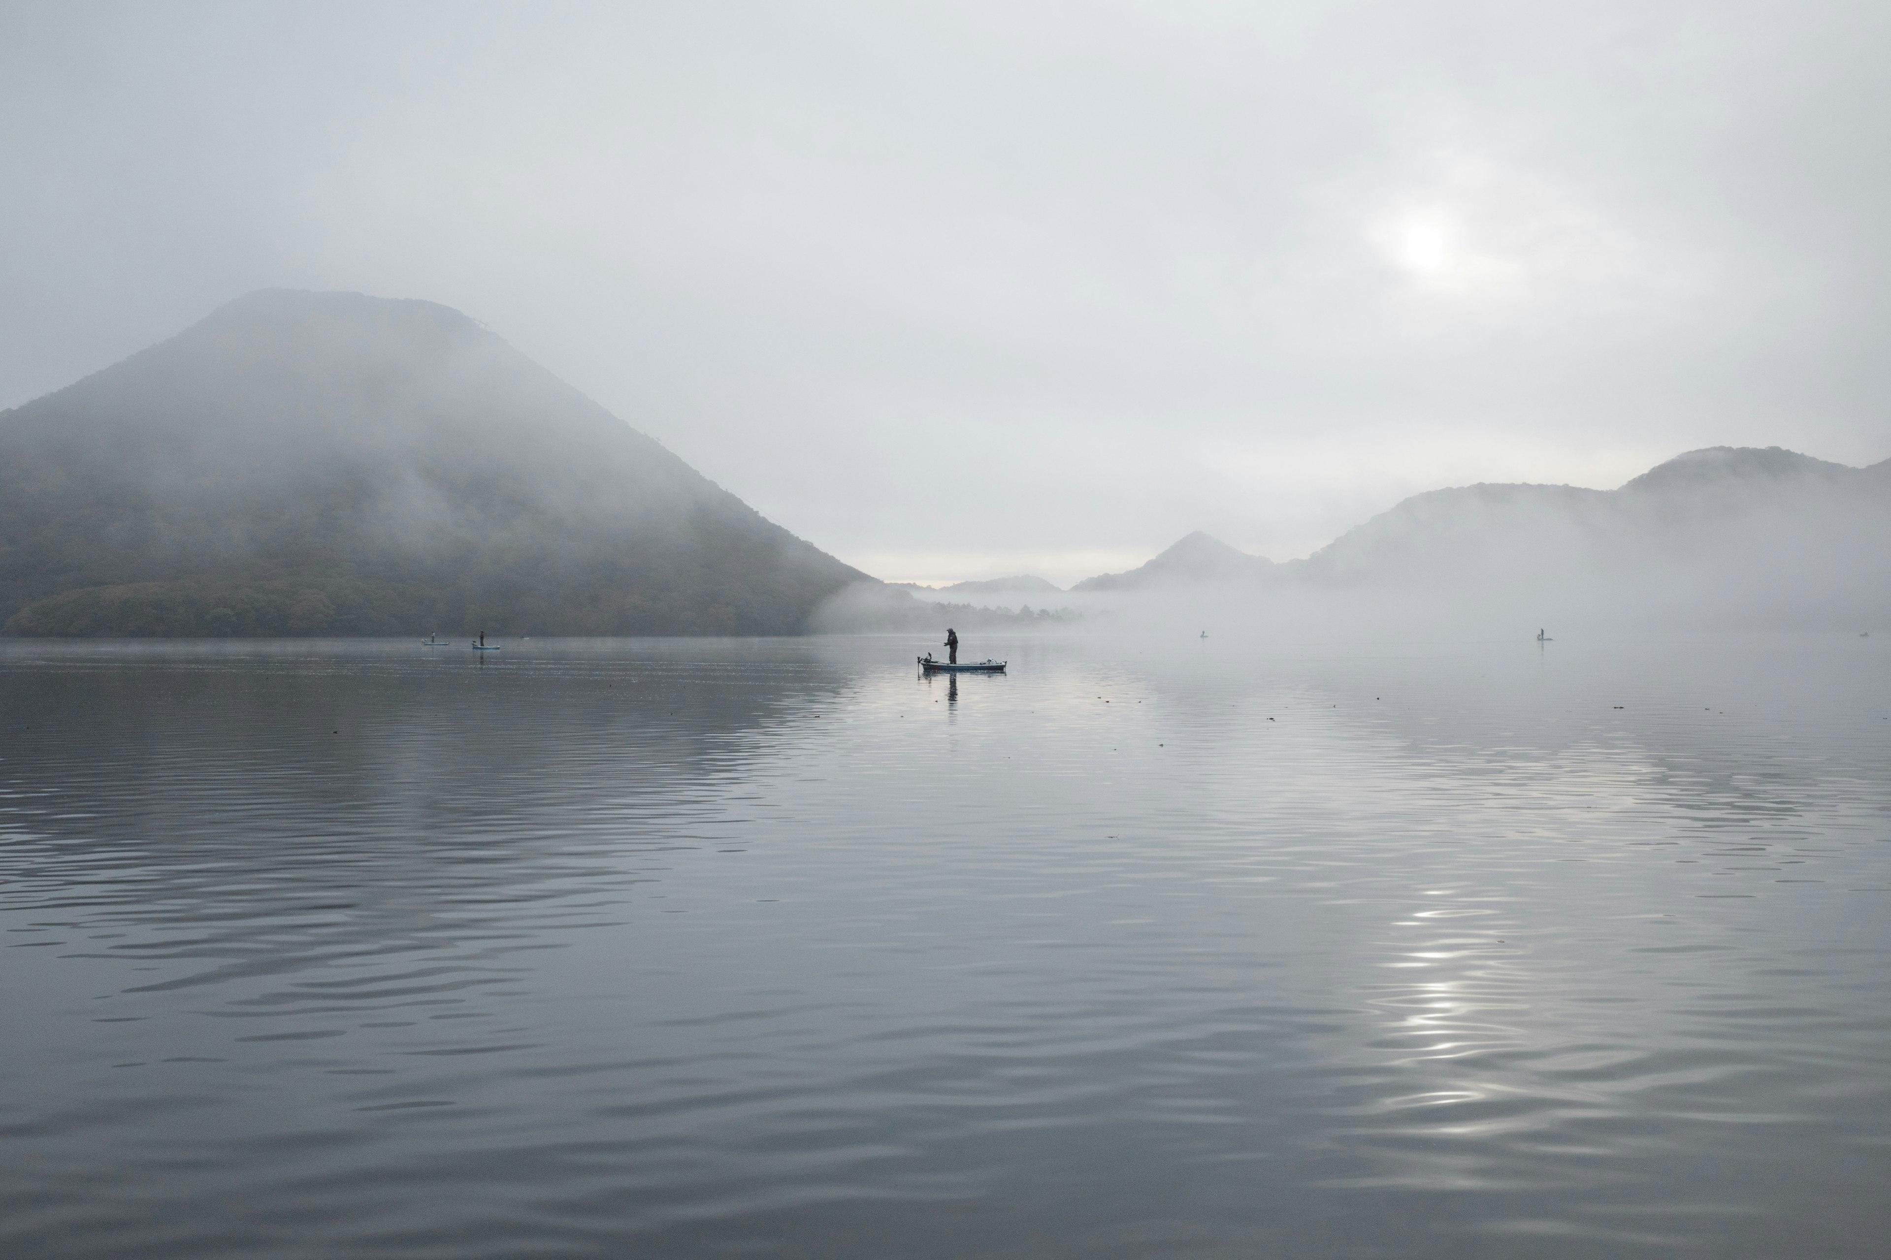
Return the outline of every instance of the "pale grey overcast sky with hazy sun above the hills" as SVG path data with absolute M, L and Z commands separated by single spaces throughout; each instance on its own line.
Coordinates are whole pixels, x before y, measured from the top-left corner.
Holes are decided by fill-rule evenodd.
M 0 0 L 0 408 L 456 306 L 883 578 L 1891 455 L 1891 6 Z

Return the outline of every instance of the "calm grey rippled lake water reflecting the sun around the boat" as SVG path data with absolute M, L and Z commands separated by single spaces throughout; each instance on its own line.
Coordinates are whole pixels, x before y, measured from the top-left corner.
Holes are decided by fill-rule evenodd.
M 0 1254 L 1882 1256 L 1891 637 L 0 646 Z

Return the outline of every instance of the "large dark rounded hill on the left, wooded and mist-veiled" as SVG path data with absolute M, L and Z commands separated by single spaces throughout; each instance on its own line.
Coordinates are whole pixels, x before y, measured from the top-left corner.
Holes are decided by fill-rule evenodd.
M 0 412 L 8 635 L 783 635 L 862 580 L 431 302 L 253 293 Z

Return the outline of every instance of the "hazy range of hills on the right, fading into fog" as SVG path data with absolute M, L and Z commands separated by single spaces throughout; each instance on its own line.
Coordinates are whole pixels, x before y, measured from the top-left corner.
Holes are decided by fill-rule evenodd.
M 1774 448 L 1677 455 L 1626 485 L 1479 484 L 1413 495 L 1305 561 L 1269 565 L 1189 535 L 1074 591 L 1239 584 L 1668 608 L 1768 621 L 1891 614 L 1891 461 Z

